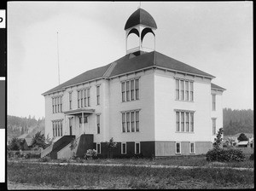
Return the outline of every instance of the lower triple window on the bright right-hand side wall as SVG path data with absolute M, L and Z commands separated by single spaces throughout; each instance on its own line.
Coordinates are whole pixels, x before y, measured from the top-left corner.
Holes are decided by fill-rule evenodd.
M 176 132 L 194 132 L 194 112 L 176 111 Z

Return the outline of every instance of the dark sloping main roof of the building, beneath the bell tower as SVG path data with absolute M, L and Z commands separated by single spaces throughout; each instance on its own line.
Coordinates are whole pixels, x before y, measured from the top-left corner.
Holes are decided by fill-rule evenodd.
M 46 91 L 43 95 L 47 95 L 58 90 L 63 90 L 64 87 L 72 86 L 75 84 L 81 84 L 96 78 L 113 78 L 120 74 L 125 74 L 127 72 L 135 72 L 137 70 L 143 70 L 145 68 L 150 67 L 161 67 L 175 72 L 185 72 L 192 75 L 199 75 L 207 78 L 215 78 L 207 72 L 203 72 L 195 67 L 190 67 L 189 65 L 181 61 L 177 61 L 167 55 L 160 54 L 157 51 L 152 51 L 149 53 L 138 51 L 135 53 L 125 55 L 119 58 L 119 60 L 113 61 L 113 63 L 108 64 L 104 67 L 97 67 L 93 70 L 84 72 L 63 84 L 60 84 L 55 88 Z

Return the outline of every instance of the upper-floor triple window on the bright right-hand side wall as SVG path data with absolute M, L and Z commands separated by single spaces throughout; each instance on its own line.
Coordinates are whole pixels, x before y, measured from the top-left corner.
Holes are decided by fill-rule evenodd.
M 175 80 L 176 84 L 176 100 L 180 101 L 194 101 L 194 83 L 189 80 L 179 79 Z

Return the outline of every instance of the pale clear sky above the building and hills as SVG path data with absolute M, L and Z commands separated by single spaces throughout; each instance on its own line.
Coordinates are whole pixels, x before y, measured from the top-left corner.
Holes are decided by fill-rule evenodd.
M 44 117 L 58 82 L 125 55 L 125 22 L 139 2 L 8 2 L 8 111 Z M 215 76 L 223 107 L 253 109 L 253 3 L 142 2 L 155 50 Z M 58 32 L 58 35 L 57 35 Z M 59 61 L 58 49 L 59 47 Z

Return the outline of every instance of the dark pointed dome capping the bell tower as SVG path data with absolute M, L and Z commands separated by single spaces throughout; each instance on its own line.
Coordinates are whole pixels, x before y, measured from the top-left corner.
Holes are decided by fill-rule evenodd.
M 129 19 L 126 21 L 125 30 L 132 26 L 137 26 L 138 24 L 157 28 L 154 18 L 144 9 L 137 9 L 133 14 L 131 14 Z

